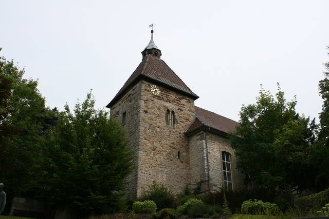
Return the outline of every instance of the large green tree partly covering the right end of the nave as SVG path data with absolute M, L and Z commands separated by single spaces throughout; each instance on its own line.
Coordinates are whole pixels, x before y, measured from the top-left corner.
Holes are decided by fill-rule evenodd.
M 296 97 L 286 102 L 279 84 L 275 97 L 261 88 L 257 103 L 241 108 L 240 124 L 231 135 L 237 167 L 264 191 L 314 186 L 315 120 L 296 113 L 296 104 Z

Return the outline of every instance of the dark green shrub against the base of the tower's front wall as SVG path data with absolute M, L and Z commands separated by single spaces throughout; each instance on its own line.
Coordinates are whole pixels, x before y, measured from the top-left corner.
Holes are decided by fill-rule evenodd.
M 170 189 L 153 181 L 147 191 L 144 191 L 140 201 L 153 200 L 158 209 L 173 208 L 174 195 Z

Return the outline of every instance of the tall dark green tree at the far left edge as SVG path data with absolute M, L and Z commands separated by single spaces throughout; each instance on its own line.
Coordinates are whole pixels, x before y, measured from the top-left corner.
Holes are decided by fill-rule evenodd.
M 56 113 L 45 107 L 38 82 L 23 75 L 24 69 L 0 57 L 0 182 L 8 201 L 34 181 L 41 146 L 56 121 Z

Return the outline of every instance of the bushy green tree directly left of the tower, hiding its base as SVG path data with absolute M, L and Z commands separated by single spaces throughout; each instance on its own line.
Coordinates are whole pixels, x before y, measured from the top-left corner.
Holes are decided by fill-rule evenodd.
M 42 152 L 40 195 L 80 213 L 118 210 L 125 179 L 133 169 L 133 151 L 123 129 L 108 112 L 94 109 L 91 93 L 59 113 Z

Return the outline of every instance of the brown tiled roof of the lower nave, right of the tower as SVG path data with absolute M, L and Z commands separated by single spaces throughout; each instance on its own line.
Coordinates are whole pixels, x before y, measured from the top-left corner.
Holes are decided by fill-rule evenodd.
M 195 120 L 186 130 L 186 133 L 189 133 L 202 126 L 207 126 L 225 133 L 230 133 L 235 130 L 237 125 L 239 125 L 239 123 L 230 120 L 229 118 L 199 107 L 195 107 L 195 116 Z

